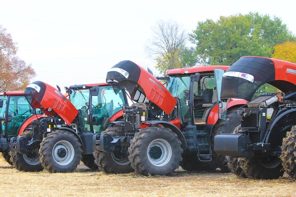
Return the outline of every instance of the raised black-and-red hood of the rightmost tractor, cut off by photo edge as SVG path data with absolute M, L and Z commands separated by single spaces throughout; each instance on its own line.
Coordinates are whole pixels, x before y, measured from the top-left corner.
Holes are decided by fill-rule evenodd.
M 222 77 L 221 99 L 251 100 L 268 83 L 284 93 L 296 91 L 296 64 L 263 57 L 242 57 Z

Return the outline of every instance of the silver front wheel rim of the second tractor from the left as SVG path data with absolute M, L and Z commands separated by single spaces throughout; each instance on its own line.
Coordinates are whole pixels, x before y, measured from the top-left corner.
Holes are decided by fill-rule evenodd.
M 74 147 L 66 140 L 57 142 L 52 150 L 54 161 L 59 165 L 68 165 L 74 159 Z

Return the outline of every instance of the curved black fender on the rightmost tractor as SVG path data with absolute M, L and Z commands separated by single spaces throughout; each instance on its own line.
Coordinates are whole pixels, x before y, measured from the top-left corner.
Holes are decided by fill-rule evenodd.
M 274 129 L 277 129 L 277 123 L 279 123 L 281 120 L 284 120 L 285 118 L 287 118 L 288 116 L 292 116 L 292 121 L 285 123 L 286 126 L 288 126 L 289 124 L 295 125 L 295 119 L 296 119 L 296 109 L 289 109 L 285 112 L 283 112 L 282 114 L 280 114 L 278 117 L 276 117 L 276 119 L 274 119 L 274 121 L 272 121 L 272 124 L 270 126 L 270 129 L 267 133 L 267 135 L 265 134 L 264 138 L 262 141 L 264 141 L 265 143 L 269 143 L 269 137 L 270 135 L 273 133 Z M 277 130 L 275 130 L 277 131 Z

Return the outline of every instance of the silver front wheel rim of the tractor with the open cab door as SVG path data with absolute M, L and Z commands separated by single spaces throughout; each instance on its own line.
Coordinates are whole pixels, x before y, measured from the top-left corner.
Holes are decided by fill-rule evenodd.
M 171 160 L 172 147 L 164 139 L 155 139 L 148 146 L 147 156 L 151 164 L 158 167 L 164 166 Z

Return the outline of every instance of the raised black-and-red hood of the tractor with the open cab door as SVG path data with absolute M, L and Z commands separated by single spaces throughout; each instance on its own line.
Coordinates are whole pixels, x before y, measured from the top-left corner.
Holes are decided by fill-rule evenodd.
M 147 70 L 131 61 L 122 61 L 107 73 L 106 82 L 111 84 L 115 93 L 125 89 L 136 102 L 155 103 L 166 114 L 170 114 L 177 100 Z

